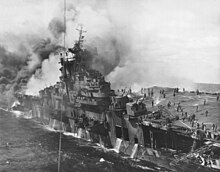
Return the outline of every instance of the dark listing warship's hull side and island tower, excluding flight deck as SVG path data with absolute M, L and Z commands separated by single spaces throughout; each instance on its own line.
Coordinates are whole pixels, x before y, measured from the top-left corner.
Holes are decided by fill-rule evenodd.
M 17 94 L 19 103 L 12 110 L 54 130 L 174 170 L 180 157 L 204 145 L 207 140 L 199 132 L 172 125 L 175 116 L 165 107 L 146 107 L 143 100 L 151 100 L 152 92 L 136 98 L 131 89 L 112 90 L 100 72 L 89 68 L 83 41 L 81 28 L 74 47 L 60 53 L 60 81 L 40 90 L 39 97 Z M 220 169 L 220 164 L 211 169 Z

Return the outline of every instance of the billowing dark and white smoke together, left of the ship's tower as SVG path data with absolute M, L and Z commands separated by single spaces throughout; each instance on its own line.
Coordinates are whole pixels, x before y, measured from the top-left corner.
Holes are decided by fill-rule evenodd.
M 25 18 L 25 16 L 23 17 Z M 33 24 L 35 22 L 33 21 Z M 16 93 L 25 93 L 26 90 L 29 90 L 29 85 L 31 88 L 36 88 L 38 84 L 42 85 L 41 82 L 35 82 L 35 87 L 28 84 L 33 81 L 34 76 L 42 81 L 53 78 L 45 77 L 44 75 L 46 74 L 57 75 L 56 71 L 58 69 L 54 69 L 53 66 L 58 66 L 57 63 L 54 63 L 54 61 L 57 62 L 55 54 L 62 49 L 59 38 L 65 28 L 61 26 L 61 23 L 60 19 L 52 18 L 47 27 L 40 26 L 40 32 L 38 32 L 38 25 L 36 25 L 35 30 L 33 28 L 30 29 L 30 26 L 27 25 L 30 30 L 26 32 L 25 23 L 22 25 L 25 28 L 24 31 L 13 30 L 3 33 L 3 37 L 0 38 L 2 42 L 0 46 L 1 99 L 13 101 L 15 99 L 14 95 Z M 52 71 L 55 70 L 55 72 L 45 71 L 45 68 L 52 69 Z M 54 80 L 57 80 L 58 77 Z M 51 81 L 49 80 L 49 82 Z M 51 83 L 54 84 L 54 82 Z M 28 93 L 32 94 L 30 91 Z

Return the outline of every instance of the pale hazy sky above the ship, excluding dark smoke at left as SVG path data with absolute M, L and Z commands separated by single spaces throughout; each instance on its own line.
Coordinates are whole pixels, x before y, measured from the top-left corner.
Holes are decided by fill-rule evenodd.
M 67 46 L 83 24 L 85 45 L 116 64 L 106 75 L 114 87 L 220 84 L 219 0 L 66 1 Z M 62 0 L 1 0 L 0 44 L 15 51 L 27 37 L 48 37 L 50 21 L 63 17 L 62 5 Z

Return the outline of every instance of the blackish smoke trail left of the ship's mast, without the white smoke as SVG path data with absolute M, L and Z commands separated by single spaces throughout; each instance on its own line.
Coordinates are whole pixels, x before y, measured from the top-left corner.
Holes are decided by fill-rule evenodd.
M 42 62 L 48 59 L 51 53 L 58 52 L 62 48 L 56 41 L 65 32 L 62 24 L 60 20 L 54 18 L 48 26 L 51 33 L 48 37 L 38 35 L 36 39 L 36 35 L 33 35 L 32 40 L 29 35 L 26 39 L 29 44 L 21 43 L 15 51 L 0 46 L 1 98 L 11 99 L 16 93 L 24 92 L 31 76 L 41 69 Z M 30 63 L 36 64 L 30 67 Z

